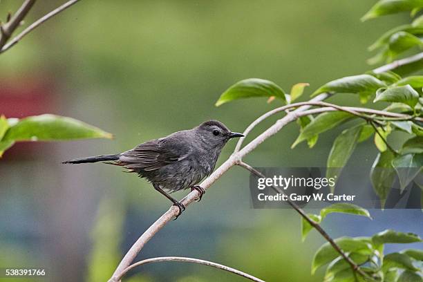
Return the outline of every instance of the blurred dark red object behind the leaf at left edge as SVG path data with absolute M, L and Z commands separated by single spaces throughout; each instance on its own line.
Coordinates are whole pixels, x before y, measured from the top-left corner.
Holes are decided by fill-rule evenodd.
M 52 113 L 57 108 L 53 79 L 46 77 L 19 77 L 0 81 L 0 115 L 6 118 L 25 118 L 29 115 Z M 3 155 L 3 160 L 33 158 L 45 144 L 18 142 Z

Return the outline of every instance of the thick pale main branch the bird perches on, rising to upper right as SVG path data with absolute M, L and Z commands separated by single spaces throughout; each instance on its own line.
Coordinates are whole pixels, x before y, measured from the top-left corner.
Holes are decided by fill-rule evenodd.
M 423 57 L 423 53 L 420 53 L 420 55 Z M 383 66 L 381 68 L 377 68 L 376 70 L 374 70 L 374 72 L 375 73 L 382 73 L 384 71 L 393 71 L 395 68 L 405 66 L 406 64 L 414 64 L 415 62 L 420 62 L 421 59 L 422 59 L 421 57 L 417 57 L 417 55 L 416 55 L 416 56 L 413 56 L 413 57 L 410 57 L 410 58 L 407 58 L 407 59 L 395 61 L 395 62 L 388 64 L 386 66 Z M 318 95 L 317 97 L 314 97 L 309 102 L 319 102 L 321 100 L 325 100 L 327 97 L 328 97 L 328 93 L 323 93 L 323 94 Z M 281 109 L 281 108 L 279 108 L 279 109 Z M 230 169 L 231 167 L 233 167 L 236 164 L 240 164 L 243 156 L 250 153 L 257 146 L 259 146 L 259 144 L 264 142 L 267 138 L 270 138 L 272 135 L 278 133 L 283 128 L 283 126 L 285 126 L 286 124 L 289 124 L 290 122 L 292 122 L 294 120 L 297 120 L 297 118 L 299 118 L 303 115 L 310 115 L 310 114 L 313 114 L 313 113 L 321 113 L 323 111 L 335 111 L 335 110 L 337 110 L 337 109 L 334 109 L 333 107 L 311 109 L 311 110 L 308 110 L 308 109 L 310 109 L 310 105 L 299 106 L 298 109 L 287 113 L 287 115 L 285 115 L 283 118 L 281 118 L 280 120 L 277 120 L 272 126 L 270 126 L 268 129 L 263 131 L 263 133 L 261 133 L 259 136 L 254 138 L 254 140 L 252 140 L 250 143 L 245 145 L 245 147 L 243 147 L 242 149 L 240 149 L 241 145 L 239 145 L 238 151 L 234 151 L 234 153 L 232 153 L 232 156 L 230 156 L 225 162 L 223 162 L 223 164 L 220 165 L 220 167 L 218 167 L 209 177 L 207 177 L 201 183 L 201 187 L 203 187 L 203 189 L 207 190 L 212 184 L 214 184 L 214 182 L 216 182 L 216 180 L 218 180 L 221 176 L 223 176 L 223 174 L 228 169 Z M 353 111 L 359 111 L 359 109 L 360 108 L 353 108 Z M 364 112 L 369 111 L 369 109 L 361 109 L 361 110 L 364 111 Z M 279 111 L 283 111 L 283 110 L 279 110 Z M 269 117 L 270 115 L 273 115 L 274 113 L 278 113 L 279 111 L 276 111 L 276 109 L 275 109 L 273 111 L 270 111 L 269 113 L 265 113 L 264 115 L 262 115 L 257 120 L 254 120 L 254 122 L 252 122 L 252 124 L 250 124 L 250 126 L 248 126 L 247 129 L 249 129 L 251 131 L 251 129 L 253 129 L 256 124 L 259 124 L 259 122 L 261 122 L 262 120 L 265 120 L 265 118 Z M 375 111 L 375 110 L 372 110 L 372 111 Z M 400 115 L 400 114 L 397 114 L 397 113 L 389 113 L 389 112 L 384 112 L 384 113 L 389 114 L 389 115 Z M 379 114 L 379 111 L 377 111 L 377 114 Z M 250 132 L 250 131 L 248 131 L 248 132 Z M 196 198 L 198 198 L 199 196 L 200 196 L 200 193 L 198 191 L 196 191 L 196 190 L 191 191 L 187 196 L 185 196 L 185 198 L 183 198 L 181 200 L 181 203 L 183 205 L 185 205 L 185 207 L 187 207 L 188 205 L 193 203 L 194 200 L 196 200 Z M 170 207 L 167 210 L 167 212 L 162 214 L 162 216 L 160 216 L 160 218 L 158 218 L 158 220 L 156 220 L 156 222 L 154 222 L 140 236 L 140 238 L 138 238 L 138 240 L 132 245 L 132 247 L 129 249 L 129 251 L 126 252 L 124 258 L 122 259 L 122 261 L 120 262 L 120 264 L 116 268 L 115 272 L 113 273 L 113 276 L 112 276 L 110 281 L 117 281 L 116 278 L 120 276 L 120 274 L 126 269 L 126 267 L 129 267 L 129 265 L 131 265 L 131 262 L 135 259 L 135 257 L 138 255 L 138 253 L 142 250 L 142 247 L 144 247 L 144 245 L 151 238 L 153 238 L 153 236 L 157 232 L 159 232 L 160 229 L 162 229 L 162 227 L 164 227 L 164 225 L 169 223 L 169 221 L 173 218 L 173 216 L 176 216 L 176 214 L 178 214 L 178 207 L 174 207 L 174 206 Z M 324 230 L 323 230 L 323 232 L 324 232 Z

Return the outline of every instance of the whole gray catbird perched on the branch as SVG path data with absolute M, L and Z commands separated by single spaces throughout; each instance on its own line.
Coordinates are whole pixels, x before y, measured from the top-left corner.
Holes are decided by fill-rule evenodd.
M 119 165 L 138 173 L 141 178 L 147 178 L 154 189 L 179 208 L 179 216 L 185 206 L 168 193 L 191 188 L 191 191 L 195 189 L 200 192 L 198 200 L 201 200 L 205 191 L 197 184 L 212 173 L 226 142 L 236 137 L 243 135 L 229 131 L 222 122 L 209 120 L 194 129 L 147 141 L 123 153 L 79 158 L 63 163 L 112 161 L 106 163 Z

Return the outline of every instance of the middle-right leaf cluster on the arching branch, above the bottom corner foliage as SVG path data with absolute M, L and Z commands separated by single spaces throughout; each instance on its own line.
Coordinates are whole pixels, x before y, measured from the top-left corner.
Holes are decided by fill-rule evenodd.
M 293 86 L 292 89 L 298 87 Z M 302 84 L 305 85 L 305 84 Z M 423 106 L 423 76 L 400 77 L 393 72 L 353 75 L 335 79 L 319 87 L 312 96 L 321 93 L 344 95 L 353 93 L 361 102 L 372 99 L 373 103 L 388 103 L 384 111 L 404 113 L 411 118 L 388 118 L 380 115 L 354 115 L 346 111 L 327 111 L 318 115 L 307 115 L 297 120 L 300 133 L 292 148 L 307 141 L 308 147 L 316 144 L 319 135 L 341 124 L 351 124 L 335 138 L 330 150 L 327 178 L 337 178 L 347 164 L 357 144 L 370 138 L 379 150 L 373 163 L 370 178 L 375 193 L 384 207 L 388 193 L 397 178 L 402 190 L 410 185 L 421 173 L 423 164 L 423 127 L 415 120 L 421 116 Z M 282 104 L 292 103 L 303 93 L 299 91 L 283 92 L 274 82 L 265 79 L 245 79 L 231 86 L 220 96 L 216 105 L 246 97 L 276 97 Z M 292 97 L 292 93 L 295 93 Z M 388 135 L 401 131 L 408 135 L 400 149 L 393 149 L 388 144 Z M 415 180 L 417 185 L 417 180 Z M 423 196 L 422 196 L 423 206 Z

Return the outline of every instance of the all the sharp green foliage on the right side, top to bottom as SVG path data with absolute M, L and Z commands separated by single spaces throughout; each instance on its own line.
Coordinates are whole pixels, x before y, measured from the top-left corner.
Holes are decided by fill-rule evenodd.
M 380 0 L 362 18 L 363 21 L 396 12 L 411 11 L 415 17 L 423 8 L 423 0 Z M 411 24 L 389 30 L 370 46 L 371 50 L 379 48 L 379 54 L 370 63 L 383 60 L 392 61 L 406 50 L 417 46 L 422 47 L 423 15 L 416 17 Z M 296 147 L 303 141 L 312 148 L 319 135 L 341 124 L 347 128 L 335 138 L 327 160 L 327 177 L 339 176 L 342 168 L 348 162 L 357 144 L 372 138 L 379 153 L 370 171 L 370 178 L 376 194 L 381 199 L 381 207 L 393 186 L 395 178 L 403 190 L 415 182 L 422 188 L 421 176 L 423 166 L 423 124 L 421 113 L 423 107 L 423 76 L 407 76 L 422 68 L 422 64 L 410 64 L 406 68 L 395 68 L 393 71 L 368 71 L 359 75 L 341 77 L 320 86 L 311 96 L 322 93 L 330 95 L 356 95 L 362 104 L 373 101 L 375 106 L 385 103 L 384 112 L 400 113 L 402 115 L 382 115 L 379 111 L 368 111 L 369 114 L 357 114 L 354 111 L 341 111 L 341 107 L 332 107 L 339 111 L 326 111 L 317 115 L 301 116 L 297 123 L 300 133 L 292 144 Z M 233 100 L 250 97 L 268 97 L 267 102 L 279 100 L 288 105 L 297 100 L 308 84 L 301 83 L 292 86 L 290 93 L 285 93 L 280 86 L 265 79 L 244 79 L 225 91 L 216 106 Z M 310 104 L 310 106 L 317 106 Z M 283 108 L 285 109 L 285 107 Z M 393 118 L 397 116 L 399 118 Z M 406 117 L 406 118 L 404 118 Z M 388 142 L 388 136 L 395 131 L 403 132 L 407 138 L 398 149 Z M 301 236 L 306 236 L 314 226 L 319 225 L 329 214 L 343 213 L 370 218 L 369 212 L 350 203 L 337 203 L 321 209 L 319 214 L 308 214 L 301 218 Z M 311 220 L 311 221 L 309 221 Z M 312 261 L 312 274 L 324 265 L 325 282 L 356 282 L 356 281 L 388 281 L 388 282 L 422 282 L 423 281 L 423 251 L 403 250 L 384 254 L 384 245 L 388 243 L 421 243 L 417 234 L 385 230 L 371 237 L 341 237 L 335 239 L 336 245 L 348 259 L 341 256 L 330 242 L 323 244 Z M 354 267 L 366 274 L 361 276 Z

